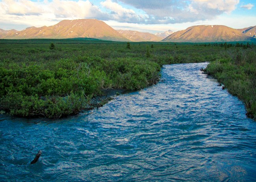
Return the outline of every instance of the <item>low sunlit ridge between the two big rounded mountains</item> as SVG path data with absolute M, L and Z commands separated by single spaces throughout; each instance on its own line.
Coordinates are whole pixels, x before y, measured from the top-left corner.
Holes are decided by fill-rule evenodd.
M 132 30 L 117 30 L 132 42 L 159 42 L 162 38 L 152 34 Z

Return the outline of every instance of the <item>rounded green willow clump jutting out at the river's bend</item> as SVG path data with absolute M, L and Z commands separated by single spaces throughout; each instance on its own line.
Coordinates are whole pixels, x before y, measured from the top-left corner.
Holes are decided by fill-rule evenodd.
M 156 83 L 161 69 L 156 62 L 135 58 L 106 60 L 104 65 L 104 71 L 111 78 L 113 87 L 128 90 L 137 90 Z

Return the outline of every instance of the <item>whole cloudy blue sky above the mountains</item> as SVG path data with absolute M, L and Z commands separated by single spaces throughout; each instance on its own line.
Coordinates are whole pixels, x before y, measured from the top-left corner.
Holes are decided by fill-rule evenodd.
M 179 31 L 193 25 L 256 25 L 256 0 L 0 0 L 0 29 L 94 18 L 114 29 Z

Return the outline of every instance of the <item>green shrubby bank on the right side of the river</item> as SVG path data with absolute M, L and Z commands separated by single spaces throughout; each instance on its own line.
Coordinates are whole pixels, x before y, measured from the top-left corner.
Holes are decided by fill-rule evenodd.
M 256 50 L 227 50 L 223 58 L 211 62 L 206 73 L 224 84 L 228 91 L 243 100 L 247 115 L 256 118 Z

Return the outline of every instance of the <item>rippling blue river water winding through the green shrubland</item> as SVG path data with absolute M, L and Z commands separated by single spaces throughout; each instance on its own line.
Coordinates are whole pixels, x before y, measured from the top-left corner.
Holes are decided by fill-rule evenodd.
M 255 181 L 256 122 L 206 66 L 165 65 L 158 84 L 77 116 L 0 115 L 0 181 Z

